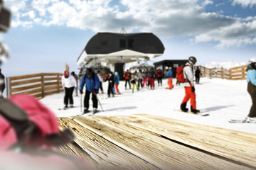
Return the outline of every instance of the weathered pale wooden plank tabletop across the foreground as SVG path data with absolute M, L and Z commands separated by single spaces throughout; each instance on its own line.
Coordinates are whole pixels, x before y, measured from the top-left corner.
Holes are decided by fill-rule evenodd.
M 58 118 L 97 169 L 256 169 L 256 135 L 156 115 Z

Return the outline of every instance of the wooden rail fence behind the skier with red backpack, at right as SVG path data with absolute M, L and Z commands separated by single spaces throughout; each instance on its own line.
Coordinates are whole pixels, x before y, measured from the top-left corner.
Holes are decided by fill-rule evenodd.
M 247 65 L 233 67 L 230 69 L 208 69 L 203 66 L 198 66 L 201 70 L 201 77 L 212 78 L 220 78 L 220 79 L 230 79 L 230 80 L 238 80 L 238 79 L 246 79 L 246 68 Z

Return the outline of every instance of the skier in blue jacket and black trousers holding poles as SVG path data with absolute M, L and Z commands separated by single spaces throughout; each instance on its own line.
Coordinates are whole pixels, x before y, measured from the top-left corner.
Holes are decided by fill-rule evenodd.
M 92 68 L 88 68 L 86 73 L 82 76 L 82 80 L 80 82 L 80 94 L 83 94 L 82 89 L 85 86 L 85 99 L 84 99 L 84 111 L 83 113 L 88 113 L 89 111 L 89 99 L 90 94 L 92 93 L 92 113 L 97 112 L 97 94 L 100 88 L 100 80 L 97 77 L 95 72 L 92 72 Z

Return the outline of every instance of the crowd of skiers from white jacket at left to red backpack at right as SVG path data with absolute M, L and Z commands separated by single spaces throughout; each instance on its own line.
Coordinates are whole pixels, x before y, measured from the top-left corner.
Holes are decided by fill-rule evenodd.
M 199 113 L 200 111 L 196 109 L 196 94 L 195 94 L 195 87 L 194 87 L 194 77 L 193 77 L 193 66 L 196 64 L 196 57 L 189 57 L 188 63 L 186 63 L 184 69 L 183 65 L 176 69 L 176 86 L 180 85 L 181 83 L 184 84 L 185 87 L 185 97 L 181 102 L 181 111 L 187 112 L 188 108 L 186 108 L 186 103 L 188 100 L 191 101 L 191 112 Z M 134 93 L 134 89 L 136 88 L 137 91 L 139 89 L 147 88 L 150 90 L 154 90 L 155 80 L 157 80 L 158 86 L 163 85 L 163 77 L 167 78 L 168 87 L 165 89 L 173 89 L 173 72 L 171 67 L 166 67 L 165 72 L 157 68 L 156 71 L 152 67 L 151 69 L 139 69 L 139 71 L 129 72 L 129 69 L 124 72 L 124 88 L 125 90 L 132 89 L 132 93 Z M 196 83 L 199 83 L 200 77 L 200 69 L 196 69 Z M 104 93 L 102 84 L 103 82 L 108 82 L 107 86 L 107 96 L 114 97 L 115 94 L 121 94 L 119 91 L 119 74 L 117 72 L 110 72 L 105 75 L 100 73 L 100 70 L 97 70 L 95 73 L 92 68 L 87 68 L 86 73 L 80 79 L 80 84 L 78 84 L 78 77 L 77 75 L 72 72 L 69 74 L 69 70 L 65 70 L 63 77 L 62 77 L 62 84 L 63 89 L 65 89 L 65 96 L 64 96 L 64 109 L 73 107 L 73 91 L 80 91 L 82 95 L 84 86 L 85 86 L 85 98 L 83 101 L 84 111 L 83 113 L 89 113 L 89 101 L 90 101 L 90 94 L 92 94 L 92 113 L 97 112 L 98 108 L 98 98 L 97 94 L 99 91 L 101 94 Z M 76 94 L 77 95 L 77 94 Z

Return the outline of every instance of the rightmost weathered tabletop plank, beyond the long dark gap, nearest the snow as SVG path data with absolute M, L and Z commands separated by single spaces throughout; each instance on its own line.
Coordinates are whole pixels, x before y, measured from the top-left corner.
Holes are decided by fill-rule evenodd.
M 122 120 L 124 118 L 125 116 L 122 116 Z M 136 123 L 135 120 L 139 123 Z M 154 129 L 155 132 L 178 142 L 256 167 L 255 134 L 188 123 L 155 115 L 134 115 L 132 125 Z

